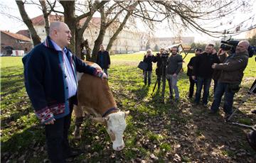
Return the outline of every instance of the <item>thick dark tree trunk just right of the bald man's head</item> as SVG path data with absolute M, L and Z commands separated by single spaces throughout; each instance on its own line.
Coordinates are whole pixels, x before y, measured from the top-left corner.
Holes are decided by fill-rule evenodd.
M 79 22 L 77 22 L 75 18 L 75 1 L 60 1 L 60 4 L 64 9 L 65 23 L 70 28 L 72 35 L 71 43 L 68 47 L 73 52 L 73 54 L 76 55 L 75 36 L 77 36 L 76 32 L 78 31 L 77 28 L 79 26 Z M 76 56 L 81 57 L 79 55 Z

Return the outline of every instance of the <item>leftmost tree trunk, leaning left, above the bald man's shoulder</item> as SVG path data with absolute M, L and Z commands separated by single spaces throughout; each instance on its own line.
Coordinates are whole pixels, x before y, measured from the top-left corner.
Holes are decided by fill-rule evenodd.
M 29 32 L 31 33 L 33 45 L 36 46 L 36 45 L 40 44 L 41 38 L 36 33 L 36 29 L 33 27 L 33 23 L 31 21 L 31 19 L 28 17 L 28 14 L 26 13 L 23 1 L 16 1 L 16 4 L 18 6 L 18 11 L 21 13 L 21 18 L 22 18 L 23 22 L 26 24 Z

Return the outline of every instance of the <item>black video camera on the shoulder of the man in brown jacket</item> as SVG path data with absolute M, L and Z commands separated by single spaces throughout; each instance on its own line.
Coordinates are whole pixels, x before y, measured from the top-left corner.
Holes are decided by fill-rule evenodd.
M 235 48 L 239 43 L 239 40 L 227 40 L 227 41 L 221 41 L 220 43 L 222 43 L 220 45 L 220 48 L 223 50 L 230 50 L 231 54 L 235 53 Z M 256 53 L 256 47 L 255 46 L 251 46 L 249 45 L 248 47 L 248 53 L 249 53 L 249 57 L 252 57 L 255 53 Z

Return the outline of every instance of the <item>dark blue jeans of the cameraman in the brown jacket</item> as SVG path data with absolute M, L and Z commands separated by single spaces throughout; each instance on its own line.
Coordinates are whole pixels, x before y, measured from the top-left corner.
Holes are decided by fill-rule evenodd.
M 233 98 L 235 93 L 231 92 L 228 90 L 228 84 L 227 83 L 222 83 L 218 82 L 217 88 L 214 93 L 214 100 L 213 104 L 210 107 L 210 110 L 213 112 L 217 112 L 220 106 L 221 98 L 223 94 L 225 93 L 224 96 L 224 106 L 223 110 L 226 114 L 231 114 L 232 113 L 232 106 L 233 106 Z

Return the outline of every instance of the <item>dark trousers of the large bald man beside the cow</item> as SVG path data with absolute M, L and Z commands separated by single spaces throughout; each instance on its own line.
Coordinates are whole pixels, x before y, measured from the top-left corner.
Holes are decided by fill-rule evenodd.
M 48 157 L 53 163 L 65 162 L 65 156 L 70 153 L 68 130 L 73 111 L 73 101 L 69 100 L 69 103 L 70 113 L 67 116 L 56 119 L 53 125 L 45 125 Z

